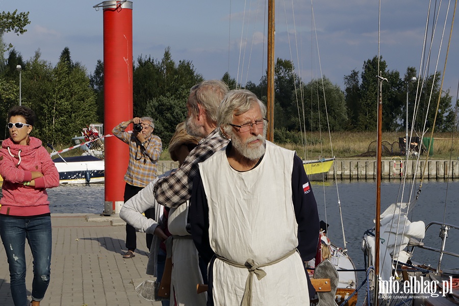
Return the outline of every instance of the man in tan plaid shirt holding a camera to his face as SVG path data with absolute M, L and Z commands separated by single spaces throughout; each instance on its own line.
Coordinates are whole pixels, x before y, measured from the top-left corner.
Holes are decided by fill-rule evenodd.
M 134 123 L 132 134 L 126 127 Z M 163 150 L 161 139 L 153 135 L 155 123 L 150 117 L 135 117 L 121 122 L 112 130 L 113 135 L 129 144 L 129 164 L 124 175 L 124 202 L 136 195 L 140 190 L 156 179 L 158 160 Z M 149 217 L 149 212 L 145 216 Z M 154 215 L 152 215 L 153 217 Z M 150 248 L 152 235 L 147 234 L 147 247 Z M 137 248 L 136 229 L 126 224 L 126 248 L 123 258 L 135 257 Z

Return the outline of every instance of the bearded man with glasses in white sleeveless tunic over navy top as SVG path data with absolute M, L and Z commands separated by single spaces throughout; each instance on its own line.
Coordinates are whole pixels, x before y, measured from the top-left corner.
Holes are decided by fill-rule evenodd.
M 317 250 L 317 203 L 295 151 L 266 140 L 265 117 L 256 95 L 228 92 L 217 120 L 231 142 L 194 178 L 189 216 L 208 305 L 309 305 L 314 292 L 304 262 Z

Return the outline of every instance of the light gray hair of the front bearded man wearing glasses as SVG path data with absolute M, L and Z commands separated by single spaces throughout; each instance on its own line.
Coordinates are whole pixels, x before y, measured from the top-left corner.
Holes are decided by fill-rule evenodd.
M 254 104 L 258 104 L 263 118 L 266 117 L 266 106 L 257 96 L 248 90 L 232 90 L 228 92 L 218 108 L 217 122 L 220 126 L 220 136 L 224 133 L 231 134 L 231 123 L 233 116 L 239 116 L 247 112 Z

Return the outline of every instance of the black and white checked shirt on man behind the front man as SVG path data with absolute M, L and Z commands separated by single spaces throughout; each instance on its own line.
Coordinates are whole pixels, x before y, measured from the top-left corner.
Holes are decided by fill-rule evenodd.
M 177 171 L 156 182 L 154 187 L 156 201 L 167 207 L 177 207 L 188 200 L 191 197 L 198 163 L 207 160 L 227 144 L 228 140 L 219 135 L 218 129 L 202 138 Z

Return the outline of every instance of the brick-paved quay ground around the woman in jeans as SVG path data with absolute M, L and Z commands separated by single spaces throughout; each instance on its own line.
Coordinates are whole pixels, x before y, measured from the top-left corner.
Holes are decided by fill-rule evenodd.
M 136 257 L 123 259 L 125 223 L 118 216 L 52 214 L 51 278 L 42 306 L 153 305 L 135 286 L 144 279 L 148 250 L 145 234 L 137 233 Z M 33 264 L 26 243 L 26 286 L 32 291 Z M 13 305 L 5 250 L 0 251 L 0 305 Z

